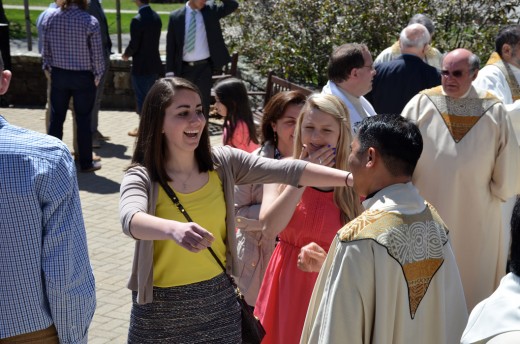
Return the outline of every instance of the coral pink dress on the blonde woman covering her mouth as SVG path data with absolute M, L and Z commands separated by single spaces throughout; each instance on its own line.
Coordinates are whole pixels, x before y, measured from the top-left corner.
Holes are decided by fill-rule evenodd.
M 255 315 L 267 332 L 262 343 L 299 343 L 318 273 L 296 266 L 300 248 L 315 242 L 328 252 L 342 227 L 334 193 L 307 188 L 269 261 Z

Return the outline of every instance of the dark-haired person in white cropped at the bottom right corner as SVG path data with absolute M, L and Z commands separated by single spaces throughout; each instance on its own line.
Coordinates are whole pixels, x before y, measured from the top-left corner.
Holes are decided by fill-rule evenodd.
M 511 216 L 510 273 L 471 311 L 462 344 L 520 343 L 520 198 Z

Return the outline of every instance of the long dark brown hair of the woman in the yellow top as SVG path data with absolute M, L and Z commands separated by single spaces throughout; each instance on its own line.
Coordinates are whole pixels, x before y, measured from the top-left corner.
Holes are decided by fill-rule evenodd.
M 162 130 L 166 108 L 173 103 L 175 93 L 179 90 L 193 91 L 200 97 L 200 91 L 197 86 L 188 80 L 173 77 L 157 80 L 144 100 L 130 167 L 136 165 L 146 167 L 153 181 L 162 183 L 170 181 L 164 167 L 168 147 Z M 213 171 L 213 159 L 207 125 L 204 126 L 199 145 L 195 149 L 195 159 L 197 160 L 199 172 Z

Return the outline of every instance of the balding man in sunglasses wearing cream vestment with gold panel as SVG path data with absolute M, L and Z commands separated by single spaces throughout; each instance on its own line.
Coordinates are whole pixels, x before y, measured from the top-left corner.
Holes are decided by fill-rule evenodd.
M 500 100 L 472 86 L 478 69 L 471 51 L 448 53 L 442 85 L 416 95 L 402 113 L 423 135 L 413 182 L 450 229 L 468 309 L 505 274 L 508 245 L 500 208 L 520 188 L 511 121 Z

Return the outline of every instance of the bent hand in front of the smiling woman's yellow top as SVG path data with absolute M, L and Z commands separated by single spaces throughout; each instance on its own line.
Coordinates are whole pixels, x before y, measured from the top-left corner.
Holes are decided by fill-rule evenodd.
M 211 246 L 213 234 L 194 222 L 181 223 L 171 231 L 172 239 L 191 252 L 200 252 Z

